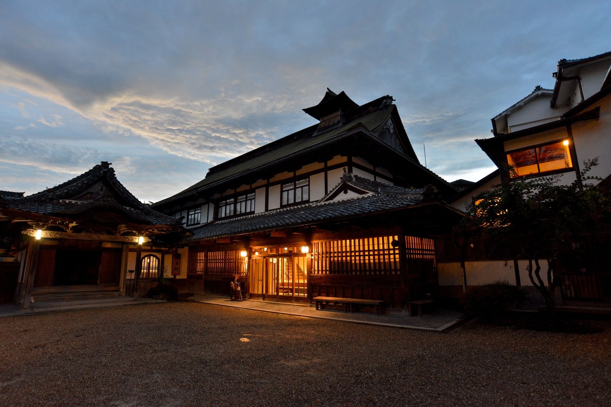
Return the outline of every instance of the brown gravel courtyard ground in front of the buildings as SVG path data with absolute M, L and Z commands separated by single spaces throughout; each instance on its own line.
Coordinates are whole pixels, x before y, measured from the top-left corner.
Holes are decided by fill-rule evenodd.
M 599 323 L 436 334 L 196 303 L 7 317 L 0 405 L 609 406 Z

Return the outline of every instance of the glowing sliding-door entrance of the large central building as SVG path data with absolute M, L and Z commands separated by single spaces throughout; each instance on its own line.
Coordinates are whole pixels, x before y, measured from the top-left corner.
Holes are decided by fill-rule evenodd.
M 251 259 L 250 291 L 263 300 L 307 300 L 305 256 Z

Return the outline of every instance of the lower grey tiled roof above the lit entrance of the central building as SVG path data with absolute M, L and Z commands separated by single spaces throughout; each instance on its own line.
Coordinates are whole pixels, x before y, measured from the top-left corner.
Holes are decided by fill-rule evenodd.
M 375 192 L 343 201 L 318 201 L 299 206 L 221 220 L 195 229 L 188 241 L 216 239 L 251 232 L 265 232 L 290 226 L 309 225 L 358 215 L 409 207 L 430 200 L 430 189 L 408 189 L 382 184 L 359 176 L 352 182 Z M 341 184 L 341 183 L 340 183 Z M 324 198 L 323 198 L 324 199 Z

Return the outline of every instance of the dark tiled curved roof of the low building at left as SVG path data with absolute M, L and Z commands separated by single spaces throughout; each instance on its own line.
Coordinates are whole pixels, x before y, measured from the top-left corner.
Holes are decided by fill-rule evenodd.
M 106 182 L 112 191 L 101 191 L 99 199 L 78 200 L 79 195 L 88 192 L 100 181 Z M 118 197 L 122 202 L 118 202 Z M 15 209 L 41 215 L 65 215 L 87 211 L 92 207 L 116 209 L 141 222 L 152 225 L 180 225 L 177 218 L 153 211 L 139 201 L 119 182 L 114 169 L 106 161 L 95 165 L 89 171 L 52 188 L 27 196 L 0 198 L 0 208 Z

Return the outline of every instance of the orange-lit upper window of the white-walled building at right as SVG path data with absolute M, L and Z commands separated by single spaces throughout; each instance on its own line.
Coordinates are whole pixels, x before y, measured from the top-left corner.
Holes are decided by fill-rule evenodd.
M 515 171 L 513 177 L 549 173 L 573 167 L 569 140 L 512 151 L 507 154 L 507 162 Z

